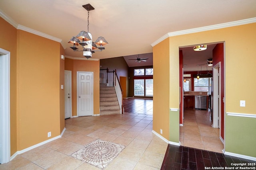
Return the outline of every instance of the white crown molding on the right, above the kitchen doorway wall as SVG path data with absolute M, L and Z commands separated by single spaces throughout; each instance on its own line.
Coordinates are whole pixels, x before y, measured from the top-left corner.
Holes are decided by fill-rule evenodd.
M 245 19 L 245 20 L 220 23 L 220 24 L 216 24 L 216 25 L 186 29 L 186 30 L 182 30 L 182 31 L 175 31 L 175 32 L 167 33 L 166 35 L 164 35 L 163 37 L 161 37 L 160 39 L 158 39 L 154 43 L 152 43 L 151 46 L 154 47 L 155 45 L 157 45 L 158 43 L 160 43 L 161 41 L 163 41 L 164 39 L 166 39 L 168 37 L 184 35 L 184 34 L 189 34 L 189 33 L 197 33 L 197 32 L 202 32 L 202 31 L 209 31 L 209 30 L 213 30 L 213 29 L 233 27 L 233 26 L 237 26 L 237 25 L 244 25 L 244 24 L 254 23 L 254 22 L 256 22 L 256 18 L 249 18 L 249 19 Z

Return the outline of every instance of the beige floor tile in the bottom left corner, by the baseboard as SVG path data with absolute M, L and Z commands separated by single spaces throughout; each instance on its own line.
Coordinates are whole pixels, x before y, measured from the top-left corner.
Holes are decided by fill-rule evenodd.
M 12 161 L 0 164 L 1 170 L 16 170 L 18 168 L 21 168 L 27 164 L 29 164 L 30 161 L 20 155 L 16 156 Z

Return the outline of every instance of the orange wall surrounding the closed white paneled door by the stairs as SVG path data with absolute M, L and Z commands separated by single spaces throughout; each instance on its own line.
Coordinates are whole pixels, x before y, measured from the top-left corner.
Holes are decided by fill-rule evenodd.
M 93 111 L 100 114 L 100 61 L 65 59 L 65 70 L 72 71 L 72 116 L 77 115 L 77 72 L 93 72 Z

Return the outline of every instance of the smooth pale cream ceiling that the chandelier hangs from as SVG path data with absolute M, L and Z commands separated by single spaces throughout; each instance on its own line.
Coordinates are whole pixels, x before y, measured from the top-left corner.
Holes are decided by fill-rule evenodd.
M 66 56 L 83 58 L 67 42 L 87 31 L 88 12 L 82 5 L 88 3 L 95 8 L 89 17 L 93 41 L 102 36 L 109 43 L 104 51 L 92 55 L 95 59 L 135 58 L 152 53 L 151 44 L 166 33 L 256 17 L 255 0 L 0 0 L 0 13 L 17 24 L 62 39 Z M 189 51 L 184 49 L 184 57 Z M 199 60 L 188 56 L 191 62 Z M 206 62 L 208 56 L 201 58 Z

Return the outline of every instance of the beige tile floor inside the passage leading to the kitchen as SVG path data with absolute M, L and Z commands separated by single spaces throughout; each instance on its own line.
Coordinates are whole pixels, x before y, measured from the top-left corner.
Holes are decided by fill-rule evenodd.
M 188 109 L 184 111 L 184 126 L 180 126 L 182 146 L 223 153 L 220 129 L 213 128 L 210 111 Z

